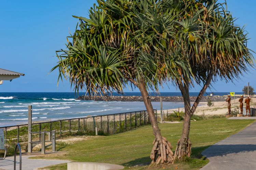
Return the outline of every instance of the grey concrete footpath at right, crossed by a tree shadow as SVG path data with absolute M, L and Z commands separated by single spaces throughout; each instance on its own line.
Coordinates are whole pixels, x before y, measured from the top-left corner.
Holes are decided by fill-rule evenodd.
M 256 169 L 256 122 L 202 152 L 210 162 L 201 170 Z

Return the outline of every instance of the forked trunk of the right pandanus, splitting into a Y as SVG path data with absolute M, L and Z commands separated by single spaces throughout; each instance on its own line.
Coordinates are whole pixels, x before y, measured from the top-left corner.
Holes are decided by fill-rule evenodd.
M 182 159 L 184 156 L 190 157 L 191 155 L 191 142 L 189 139 L 189 130 L 190 130 L 190 119 L 193 116 L 196 108 L 201 101 L 204 92 L 209 87 L 212 77 L 213 77 L 214 69 L 211 68 L 210 72 L 208 73 L 207 80 L 204 83 L 201 91 L 199 92 L 196 101 L 194 102 L 192 108 L 190 107 L 190 99 L 189 99 L 189 87 L 188 82 L 183 84 L 179 84 L 179 88 L 181 90 L 183 99 L 184 99 L 184 106 L 185 106 L 185 117 L 183 123 L 183 129 L 181 138 L 177 142 L 177 147 L 175 149 L 174 158 L 175 159 Z M 190 109 L 191 108 L 191 109 Z

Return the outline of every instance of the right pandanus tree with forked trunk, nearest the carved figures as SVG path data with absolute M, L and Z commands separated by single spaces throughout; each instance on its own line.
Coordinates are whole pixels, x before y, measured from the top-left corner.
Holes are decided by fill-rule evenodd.
M 179 35 L 176 41 L 180 42 L 183 59 L 191 69 L 188 76 L 181 70 L 183 76 L 176 79 L 184 99 L 185 117 L 174 156 L 182 159 L 191 154 L 190 119 L 205 90 L 217 80 L 228 82 L 239 78 L 254 66 L 254 58 L 246 47 L 247 34 L 234 23 L 235 19 L 224 4 L 217 0 L 191 0 L 179 5 L 184 15 L 176 22 Z M 189 88 L 195 84 L 201 85 L 202 89 L 191 106 Z

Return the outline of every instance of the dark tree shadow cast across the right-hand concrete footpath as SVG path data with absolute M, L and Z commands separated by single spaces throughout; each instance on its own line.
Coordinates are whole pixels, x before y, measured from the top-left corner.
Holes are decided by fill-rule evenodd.
M 212 145 L 202 152 L 202 155 L 210 158 L 214 156 L 226 156 L 232 153 L 255 152 L 256 145 Z

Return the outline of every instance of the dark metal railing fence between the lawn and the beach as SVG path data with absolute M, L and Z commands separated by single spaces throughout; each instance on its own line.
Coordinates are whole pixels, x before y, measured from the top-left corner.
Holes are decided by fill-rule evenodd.
M 154 113 L 156 114 L 156 110 Z M 146 111 L 126 112 L 118 114 L 81 117 L 73 119 L 62 119 L 55 121 L 32 123 L 31 132 L 56 131 L 56 138 L 63 135 L 95 135 L 97 127 L 99 135 L 108 135 L 124 131 L 129 131 L 141 125 L 150 123 Z M 5 131 L 5 145 L 16 142 L 28 141 L 28 124 L 0 127 Z M 50 138 L 50 133 L 45 137 Z M 32 140 L 41 140 L 41 133 L 33 134 Z

